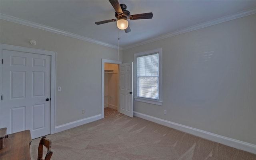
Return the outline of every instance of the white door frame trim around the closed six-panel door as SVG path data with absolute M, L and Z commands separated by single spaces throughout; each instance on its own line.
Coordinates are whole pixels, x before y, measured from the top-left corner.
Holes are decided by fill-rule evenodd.
M 40 50 L 35 48 L 27 48 L 22 46 L 13 46 L 8 44 L 0 44 L 1 46 L 1 53 L 0 53 L 0 60 L 2 60 L 3 50 L 13 50 L 19 52 L 28 52 L 32 54 L 43 54 L 48 55 L 51 57 L 51 79 L 50 79 L 50 94 L 51 94 L 51 102 L 50 102 L 50 134 L 55 133 L 55 110 L 56 110 L 56 52 L 48 51 L 48 50 Z M 1 90 L 0 93 L 2 95 L 2 65 L 0 65 L 0 85 Z M 0 111 L 2 113 L 2 101 L 0 102 Z M 2 128 L 2 115 L 0 114 L 0 128 Z

